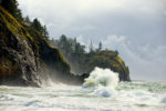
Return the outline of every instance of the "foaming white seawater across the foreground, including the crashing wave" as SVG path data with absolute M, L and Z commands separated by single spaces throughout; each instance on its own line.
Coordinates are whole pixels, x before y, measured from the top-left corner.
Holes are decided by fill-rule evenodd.
M 1 85 L 0 111 L 166 111 L 166 83 L 118 82 L 118 73 L 95 68 L 83 85 Z

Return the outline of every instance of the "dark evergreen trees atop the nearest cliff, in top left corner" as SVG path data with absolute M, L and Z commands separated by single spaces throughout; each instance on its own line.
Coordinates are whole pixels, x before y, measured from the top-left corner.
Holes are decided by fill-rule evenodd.
M 1 0 L 0 3 L 4 9 L 7 9 L 14 18 L 22 21 L 22 13 L 21 10 L 18 9 L 18 1 L 17 0 Z

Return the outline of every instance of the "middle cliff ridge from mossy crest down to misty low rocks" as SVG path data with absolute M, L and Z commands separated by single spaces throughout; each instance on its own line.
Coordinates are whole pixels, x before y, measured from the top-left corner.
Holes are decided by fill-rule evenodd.
M 38 48 L 39 57 L 45 64 L 48 73 L 53 81 L 61 81 L 65 83 L 82 83 L 82 77 L 71 73 L 70 64 L 66 62 L 62 53 L 54 48 L 45 38 L 31 27 L 24 26 L 27 31 L 33 37 Z

